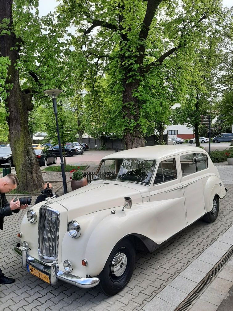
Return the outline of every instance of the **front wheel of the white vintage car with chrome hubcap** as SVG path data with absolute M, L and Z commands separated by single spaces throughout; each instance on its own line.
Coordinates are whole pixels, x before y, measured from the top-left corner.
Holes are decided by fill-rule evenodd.
M 117 258 L 120 257 L 120 258 Z M 118 267 L 115 267 L 114 274 L 113 263 L 118 261 Z M 113 296 L 121 291 L 130 281 L 135 266 L 135 248 L 128 240 L 124 239 L 118 242 L 110 253 L 107 262 L 99 275 L 99 289 L 107 295 Z

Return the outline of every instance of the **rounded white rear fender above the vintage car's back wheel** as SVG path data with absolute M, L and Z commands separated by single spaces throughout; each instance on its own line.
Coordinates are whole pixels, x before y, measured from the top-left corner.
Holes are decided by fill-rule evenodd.
M 208 181 L 204 187 L 204 204 L 206 213 L 212 210 L 213 198 L 216 194 L 220 197 L 220 199 L 223 199 L 226 195 L 226 190 L 219 177 L 211 176 L 208 178 Z

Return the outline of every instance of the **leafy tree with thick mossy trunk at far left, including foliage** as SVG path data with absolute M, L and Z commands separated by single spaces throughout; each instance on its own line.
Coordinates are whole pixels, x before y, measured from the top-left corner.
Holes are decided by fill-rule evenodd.
M 0 98 L 19 188 L 30 191 L 41 188 L 43 178 L 31 144 L 29 112 L 34 104 L 49 101 L 45 89 L 63 88 L 67 97 L 73 95 L 71 72 L 82 64 L 69 38 L 64 39 L 68 34 L 62 19 L 55 21 L 52 13 L 40 18 L 37 6 L 37 0 L 0 0 Z

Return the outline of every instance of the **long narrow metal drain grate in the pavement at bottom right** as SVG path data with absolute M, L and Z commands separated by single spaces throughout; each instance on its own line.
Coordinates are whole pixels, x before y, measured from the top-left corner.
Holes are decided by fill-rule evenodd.
M 233 246 L 220 259 L 219 262 L 210 270 L 210 272 L 203 278 L 203 280 L 191 291 L 184 301 L 175 309 L 175 311 L 187 311 L 196 302 L 200 295 L 206 290 L 208 285 L 215 279 L 218 273 L 223 269 L 227 262 L 233 256 Z

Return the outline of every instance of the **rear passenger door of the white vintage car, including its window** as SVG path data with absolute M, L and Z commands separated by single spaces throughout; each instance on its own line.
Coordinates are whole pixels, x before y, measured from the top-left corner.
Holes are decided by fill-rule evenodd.
M 205 214 L 202 173 L 198 171 L 195 153 L 180 156 L 180 170 L 187 223 L 190 225 Z

